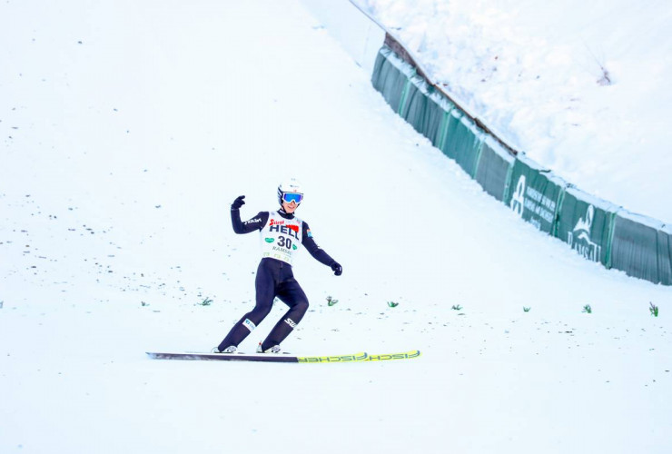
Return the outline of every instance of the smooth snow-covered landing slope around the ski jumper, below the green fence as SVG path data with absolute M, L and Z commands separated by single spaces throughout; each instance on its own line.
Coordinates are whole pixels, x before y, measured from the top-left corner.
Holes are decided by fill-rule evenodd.
M 298 2 L 8 1 L 0 39 L 0 452 L 672 449 L 670 289 L 520 222 Z M 290 176 L 344 271 L 300 256 L 282 347 L 422 356 L 149 360 L 252 309 L 229 206 Z

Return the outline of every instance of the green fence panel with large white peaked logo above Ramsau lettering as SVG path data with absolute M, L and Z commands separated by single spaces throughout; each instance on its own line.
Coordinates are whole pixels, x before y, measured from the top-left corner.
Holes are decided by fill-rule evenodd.
M 568 187 L 558 210 L 555 235 L 586 259 L 610 266 L 614 219 L 621 208 Z

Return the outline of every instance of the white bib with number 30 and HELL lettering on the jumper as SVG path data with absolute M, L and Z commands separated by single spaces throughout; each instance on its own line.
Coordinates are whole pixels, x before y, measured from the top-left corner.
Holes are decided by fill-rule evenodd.
M 292 264 L 301 248 L 301 220 L 285 219 L 278 212 L 270 212 L 262 229 L 262 258 L 282 260 Z

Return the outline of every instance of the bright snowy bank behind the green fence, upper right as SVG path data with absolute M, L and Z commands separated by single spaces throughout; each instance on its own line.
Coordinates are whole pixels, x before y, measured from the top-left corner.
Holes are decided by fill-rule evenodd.
M 672 2 L 354 1 L 511 146 L 672 222 Z

